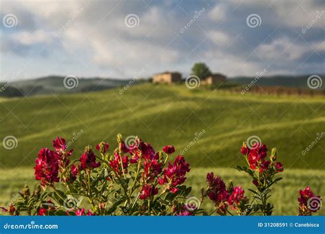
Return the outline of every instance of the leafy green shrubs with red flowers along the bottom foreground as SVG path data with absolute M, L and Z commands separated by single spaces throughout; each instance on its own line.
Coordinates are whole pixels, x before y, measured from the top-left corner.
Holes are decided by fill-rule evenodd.
M 249 199 L 241 186 L 228 186 L 210 172 L 200 199 L 189 197 L 191 187 L 184 182 L 190 172 L 184 156 L 177 155 L 172 145 L 156 152 L 152 145 L 136 138 L 130 145 L 119 134 L 118 146 L 109 152 L 108 143 L 96 145 L 98 152 L 86 146 L 80 159 L 71 161 L 65 139 L 53 141 L 54 150 L 40 149 L 36 159 L 35 178 L 40 180 L 34 191 L 25 186 L 19 200 L 3 211 L 10 215 L 272 215 L 274 205 L 268 202 L 272 187 L 282 178 L 282 164 L 276 161 L 276 149 L 267 156 L 266 145 L 245 143 L 241 153 L 248 163 L 237 166 L 252 177 L 256 190 L 249 189 Z M 90 209 L 80 208 L 86 198 Z M 215 205 L 215 211 L 201 209 L 204 199 Z M 299 215 L 311 215 L 320 209 L 321 198 L 309 187 L 300 190 Z

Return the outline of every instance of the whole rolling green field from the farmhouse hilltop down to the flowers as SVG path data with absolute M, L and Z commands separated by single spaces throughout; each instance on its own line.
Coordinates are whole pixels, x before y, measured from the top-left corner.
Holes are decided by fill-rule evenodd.
M 188 183 L 196 190 L 210 169 L 206 167 L 215 168 L 213 171 L 226 180 L 250 185 L 245 176 L 227 167 L 242 165 L 242 142 L 258 136 L 269 148 L 278 148 L 278 160 L 285 167 L 285 179 L 272 198 L 277 205 L 275 212 L 296 214 L 298 189 L 309 185 L 325 196 L 321 187 L 325 180 L 325 139 L 302 154 L 317 133 L 325 131 L 324 103 L 323 97 L 241 95 L 153 84 L 132 86 L 123 92 L 114 89 L 1 98 L 0 139 L 14 136 L 17 145 L 12 150 L 0 145 L 0 205 L 25 182 L 33 181 L 32 167 L 39 148 L 51 147 L 56 136 L 71 141 L 75 158 L 86 144 L 107 141 L 115 148 L 117 133 L 138 135 L 156 149 L 166 144 L 175 145 L 176 152 L 188 148 L 184 156 L 193 168 Z M 200 132 L 204 134 L 196 140 Z

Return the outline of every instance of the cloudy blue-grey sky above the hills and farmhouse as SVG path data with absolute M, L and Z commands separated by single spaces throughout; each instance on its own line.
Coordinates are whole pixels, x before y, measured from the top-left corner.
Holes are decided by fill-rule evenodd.
M 0 80 L 324 73 L 324 0 L 0 1 Z

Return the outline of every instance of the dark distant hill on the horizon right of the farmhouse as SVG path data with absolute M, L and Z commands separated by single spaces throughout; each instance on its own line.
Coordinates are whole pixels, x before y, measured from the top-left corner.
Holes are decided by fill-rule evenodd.
M 262 77 L 256 79 L 256 84 L 259 86 L 285 86 L 285 87 L 296 87 L 302 89 L 309 89 L 307 84 L 307 80 L 311 75 L 274 75 L 268 77 Z M 320 74 L 320 78 L 322 78 L 322 86 L 318 89 L 325 89 L 325 75 Z M 234 82 L 238 84 L 250 84 L 255 77 L 248 76 L 237 76 L 234 78 L 228 78 L 228 82 Z

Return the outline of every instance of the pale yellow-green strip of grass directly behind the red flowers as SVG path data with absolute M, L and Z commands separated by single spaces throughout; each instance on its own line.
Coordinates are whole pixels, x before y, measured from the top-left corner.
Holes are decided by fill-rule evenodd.
M 241 185 L 249 197 L 252 196 L 248 188 L 254 189 L 252 181 L 243 173 L 232 168 L 192 168 L 186 185 L 193 187 L 192 196 L 200 197 L 200 189 L 206 186 L 205 177 L 207 172 L 214 172 L 226 181 L 230 179 L 234 185 Z M 29 167 L 19 167 L 19 169 L 3 169 L 0 171 L 0 178 L 5 178 L 1 183 L 0 207 L 8 204 L 10 200 L 14 202 L 17 192 L 23 185 L 28 184 L 33 187 L 38 182 L 34 180 L 34 170 Z M 325 172 L 311 169 L 286 169 L 281 174 L 285 179 L 281 180 L 274 187 L 274 192 L 270 201 L 275 205 L 274 215 L 296 215 L 298 213 L 298 191 L 307 185 L 311 186 L 315 194 L 325 196 Z M 203 203 L 203 208 L 213 211 L 213 204 L 208 200 Z M 325 215 L 325 210 L 321 209 L 317 215 Z

